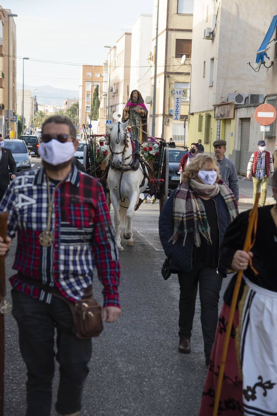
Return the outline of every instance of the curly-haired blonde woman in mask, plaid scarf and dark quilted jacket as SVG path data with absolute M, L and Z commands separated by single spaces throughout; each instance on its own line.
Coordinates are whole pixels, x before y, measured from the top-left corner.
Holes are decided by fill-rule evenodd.
M 218 300 L 223 273 L 219 248 L 228 225 L 237 216 L 237 202 L 221 181 L 209 155 L 198 155 L 185 168 L 182 183 L 166 201 L 159 234 L 170 269 L 178 272 L 179 352 L 189 353 L 199 282 L 201 325 L 206 364 L 218 322 Z

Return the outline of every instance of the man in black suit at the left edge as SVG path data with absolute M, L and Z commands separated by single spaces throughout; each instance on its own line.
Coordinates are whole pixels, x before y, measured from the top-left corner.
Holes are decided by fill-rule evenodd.
M 7 190 L 8 185 L 10 185 L 10 174 L 9 167 L 12 171 L 11 179 L 14 179 L 16 176 L 16 163 L 15 159 L 12 156 L 10 149 L 5 149 L 4 139 L 0 137 L 0 201 L 2 200 L 4 193 Z

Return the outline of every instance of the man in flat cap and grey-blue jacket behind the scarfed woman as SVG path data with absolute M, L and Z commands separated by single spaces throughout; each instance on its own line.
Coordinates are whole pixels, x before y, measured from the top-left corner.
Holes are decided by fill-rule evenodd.
M 220 169 L 220 176 L 222 180 L 226 183 L 228 188 L 230 188 L 236 200 L 238 201 L 239 188 L 237 171 L 234 163 L 224 156 L 226 151 L 226 141 L 216 140 L 213 142 L 213 147 L 215 149 L 215 158 Z

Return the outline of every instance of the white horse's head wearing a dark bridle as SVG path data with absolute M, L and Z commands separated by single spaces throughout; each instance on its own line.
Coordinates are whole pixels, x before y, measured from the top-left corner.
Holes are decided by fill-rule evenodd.
M 109 147 L 111 151 L 111 164 L 115 168 L 121 168 L 124 158 L 124 152 L 127 145 L 127 134 L 126 128 L 129 120 L 124 124 L 120 122 L 114 123 L 112 126 L 107 126 L 110 130 L 109 134 Z

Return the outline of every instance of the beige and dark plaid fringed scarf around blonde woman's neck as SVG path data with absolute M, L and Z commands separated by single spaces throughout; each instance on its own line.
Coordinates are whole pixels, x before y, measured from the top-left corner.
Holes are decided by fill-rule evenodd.
M 175 244 L 180 237 L 183 237 L 183 245 L 185 245 L 188 233 L 192 233 L 196 247 L 200 247 L 200 235 L 208 245 L 211 245 L 210 226 L 204 204 L 199 196 L 213 198 L 218 193 L 220 193 L 228 208 L 229 220 L 232 222 L 238 214 L 237 202 L 225 182 L 220 180 L 213 185 L 205 185 L 195 181 L 195 179 L 190 179 L 189 183 L 180 183 L 174 195 L 174 233 L 169 241 Z

